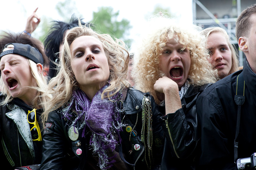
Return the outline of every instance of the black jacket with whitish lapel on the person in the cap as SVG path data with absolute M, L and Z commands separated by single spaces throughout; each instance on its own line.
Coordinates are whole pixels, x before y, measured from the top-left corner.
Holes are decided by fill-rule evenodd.
M 1 169 L 40 164 L 43 142 L 32 141 L 27 113 L 13 102 L 0 106 L 0 138 Z

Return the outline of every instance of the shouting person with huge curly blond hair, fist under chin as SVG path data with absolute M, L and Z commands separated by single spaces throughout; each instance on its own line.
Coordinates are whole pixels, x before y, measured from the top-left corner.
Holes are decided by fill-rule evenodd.
M 150 23 L 134 52 L 135 88 L 150 92 L 165 113 L 162 169 L 193 169 L 200 139 L 195 102 L 216 82 L 216 71 L 197 26 L 164 17 Z

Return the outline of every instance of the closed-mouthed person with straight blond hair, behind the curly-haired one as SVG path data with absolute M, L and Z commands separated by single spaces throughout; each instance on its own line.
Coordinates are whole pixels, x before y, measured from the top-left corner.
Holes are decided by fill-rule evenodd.
M 210 63 L 218 70 L 218 78 L 222 79 L 238 71 L 237 52 L 230 43 L 229 35 L 220 27 L 209 27 L 201 32 L 206 37 Z

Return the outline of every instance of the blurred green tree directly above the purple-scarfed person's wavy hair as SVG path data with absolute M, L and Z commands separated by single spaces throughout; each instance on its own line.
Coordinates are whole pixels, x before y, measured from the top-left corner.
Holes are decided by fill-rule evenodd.
M 130 47 L 132 40 L 127 38 L 129 29 L 132 28 L 127 19 L 118 21 L 119 11 L 114 12 L 112 7 L 99 7 L 98 12 L 93 12 L 93 19 L 90 23 L 94 24 L 94 30 L 107 33 L 112 38 L 119 38 Z

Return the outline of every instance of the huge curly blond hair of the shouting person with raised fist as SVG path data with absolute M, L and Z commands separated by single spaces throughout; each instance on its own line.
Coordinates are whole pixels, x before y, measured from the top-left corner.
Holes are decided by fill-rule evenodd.
M 175 41 L 190 51 L 191 65 L 188 75 L 189 84 L 200 86 L 206 83 L 216 82 L 217 72 L 212 70 L 208 62 L 209 54 L 204 43 L 204 37 L 200 35 L 200 28 L 187 24 L 174 23 L 173 20 L 164 17 L 157 17 L 150 20 L 147 26 L 149 32 L 142 36 L 134 52 L 134 65 L 132 76 L 135 88 L 150 92 L 155 101 L 160 101 L 156 97 L 154 84 L 156 80 L 164 76 L 159 68 L 160 57 L 163 48 L 170 39 L 175 37 Z M 153 24 L 153 25 L 152 25 Z

